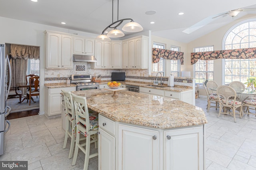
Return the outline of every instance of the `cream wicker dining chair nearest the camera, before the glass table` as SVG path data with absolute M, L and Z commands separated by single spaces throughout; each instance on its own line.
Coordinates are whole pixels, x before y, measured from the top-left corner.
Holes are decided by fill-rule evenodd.
M 218 118 L 220 117 L 220 114 L 228 114 L 230 112 L 227 112 L 227 109 L 232 109 L 232 115 L 234 117 L 234 122 L 236 123 L 236 109 L 240 108 L 239 115 L 240 119 L 242 119 L 243 112 L 242 112 L 242 102 L 238 101 L 236 98 L 236 91 L 227 85 L 221 85 L 217 89 L 217 95 L 220 105 L 220 111 Z M 224 112 L 221 112 L 223 109 Z

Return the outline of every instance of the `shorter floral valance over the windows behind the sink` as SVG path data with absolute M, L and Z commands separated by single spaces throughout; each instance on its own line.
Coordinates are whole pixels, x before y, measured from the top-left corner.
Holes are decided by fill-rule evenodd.
M 172 60 L 180 60 L 180 64 L 184 64 L 184 59 L 183 59 L 183 52 L 179 52 L 179 51 L 172 51 L 172 50 L 168 50 L 168 49 L 160 49 L 160 48 L 152 48 L 153 51 L 153 63 L 158 63 L 158 61 L 160 60 L 160 57 L 164 58 L 164 59 L 172 59 Z

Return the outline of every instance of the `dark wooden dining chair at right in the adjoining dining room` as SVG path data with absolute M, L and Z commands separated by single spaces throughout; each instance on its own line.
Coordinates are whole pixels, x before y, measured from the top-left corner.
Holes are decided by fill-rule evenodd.
M 34 89 L 32 89 L 33 86 L 34 86 Z M 29 89 L 27 90 L 27 103 L 29 100 L 29 105 L 31 103 L 31 99 L 35 103 L 32 96 L 39 96 L 39 76 L 34 76 L 29 78 Z

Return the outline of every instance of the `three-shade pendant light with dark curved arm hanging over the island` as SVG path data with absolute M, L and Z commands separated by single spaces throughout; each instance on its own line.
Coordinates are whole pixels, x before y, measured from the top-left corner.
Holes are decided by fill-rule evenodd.
M 110 38 L 120 38 L 124 36 L 124 33 L 121 30 L 118 30 L 117 27 L 120 26 L 122 24 L 122 22 L 124 22 L 125 20 L 130 20 L 130 22 L 128 22 L 127 24 L 125 24 L 122 28 L 123 31 L 125 32 L 140 32 L 143 30 L 142 26 L 140 24 L 138 24 L 137 22 L 134 22 L 133 19 L 131 18 L 126 18 L 126 19 L 122 19 L 122 20 L 118 20 L 118 10 L 119 10 L 119 2 L 117 0 L 118 6 L 117 6 L 117 21 L 113 22 L 113 6 L 114 6 L 114 0 L 112 0 L 112 24 L 110 24 L 109 26 L 107 26 L 103 31 L 102 34 L 99 35 L 95 40 L 98 41 L 111 41 Z M 108 28 L 114 28 L 113 30 L 111 30 L 110 32 L 108 32 L 107 35 L 104 34 L 104 32 L 108 29 Z

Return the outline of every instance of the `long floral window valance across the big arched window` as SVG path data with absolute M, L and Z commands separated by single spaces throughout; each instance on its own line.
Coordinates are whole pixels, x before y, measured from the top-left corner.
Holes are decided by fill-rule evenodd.
M 208 51 L 191 53 L 191 65 L 196 63 L 198 59 L 252 59 L 256 58 L 256 48 L 228 49 L 220 51 Z

